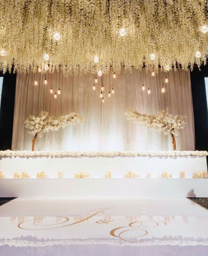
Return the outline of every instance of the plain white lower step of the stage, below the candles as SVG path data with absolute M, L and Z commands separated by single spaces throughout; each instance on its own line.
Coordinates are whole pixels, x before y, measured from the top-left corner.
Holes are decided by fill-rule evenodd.
M 0 179 L 0 197 L 208 197 L 208 179 Z

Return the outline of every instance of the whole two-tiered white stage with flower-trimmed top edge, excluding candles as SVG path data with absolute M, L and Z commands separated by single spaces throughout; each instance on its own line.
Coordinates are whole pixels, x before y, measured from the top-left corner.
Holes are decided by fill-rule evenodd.
M 207 152 L 31 152 L 1 151 L 0 197 L 25 196 L 156 196 L 207 197 L 208 179 L 192 178 L 194 172 L 207 172 Z M 180 172 L 185 172 L 185 179 Z M 27 172 L 30 179 L 13 179 L 13 173 Z M 38 172 L 46 179 L 36 179 Z M 58 171 L 63 178 L 57 179 Z M 75 172 L 90 178 L 74 179 Z M 111 171 L 112 178 L 105 174 Z M 128 171 L 140 178 L 126 179 Z M 172 179 L 161 178 L 162 172 Z M 151 178 L 147 174 L 151 173 Z

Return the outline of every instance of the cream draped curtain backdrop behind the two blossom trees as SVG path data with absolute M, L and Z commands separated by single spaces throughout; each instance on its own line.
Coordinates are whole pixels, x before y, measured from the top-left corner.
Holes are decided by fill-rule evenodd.
M 104 74 L 104 103 L 100 98 L 101 78 L 97 76 L 96 90 L 92 90 L 95 75 L 64 77 L 63 73 L 18 74 L 13 123 L 12 149 L 31 150 L 33 136 L 24 127 L 25 119 L 45 110 L 53 116 L 78 112 L 84 118 L 83 125 L 68 126 L 56 132 L 48 132 L 36 140 L 35 150 L 172 150 L 170 135 L 159 134 L 154 129 L 139 127 L 126 120 L 124 112 L 135 108 L 141 113 L 158 114 L 170 108 L 172 114 L 186 115 L 187 125 L 176 136 L 177 150 L 195 150 L 194 118 L 190 72 L 181 69 L 167 73 L 169 83 L 165 84 L 165 73 L 159 70 L 155 77 L 145 72 L 142 90 L 142 71 L 121 71 L 113 79 L 113 71 Z M 34 85 L 37 78 L 38 85 Z M 166 89 L 161 92 L 162 80 Z M 108 98 L 114 88 L 115 93 Z M 61 95 L 57 99 L 53 91 L 60 85 Z M 147 94 L 148 87 L 151 90 Z

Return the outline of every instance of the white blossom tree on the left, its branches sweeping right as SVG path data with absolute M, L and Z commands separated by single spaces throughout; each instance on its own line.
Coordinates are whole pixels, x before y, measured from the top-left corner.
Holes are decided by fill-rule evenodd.
M 24 123 L 25 127 L 29 129 L 29 133 L 34 135 L 32 140 L 32 151 L 34 151 L 34 144 L 37 136 L 42 137 L 45 132 L 57 131 L 69 124 L 83 124 L 83 119 L 78 113 L 70 113 L 68 115 L 55 118 L 53 116 L 49 116 L 48 112 L 41 111 L 39 116 L 30 115 Z

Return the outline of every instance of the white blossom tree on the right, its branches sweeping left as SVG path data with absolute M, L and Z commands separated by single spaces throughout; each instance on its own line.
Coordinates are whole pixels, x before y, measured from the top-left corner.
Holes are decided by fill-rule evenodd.
M 185 127 L 185 119 L 187 118 L 187 116 L 171 115 L 169 108 L 159 111 L 158 116 L 141 114 L 134 109 L 127 110 L 124 115 L 127 116 L 128 120 L 139 124 L 140 126 L 155 128 L 165 135 L 170 134 L 174 150 L 176 150 L 176 140 L 174 135 L 179 135 L 179 130 Z

